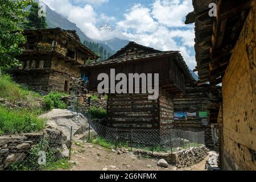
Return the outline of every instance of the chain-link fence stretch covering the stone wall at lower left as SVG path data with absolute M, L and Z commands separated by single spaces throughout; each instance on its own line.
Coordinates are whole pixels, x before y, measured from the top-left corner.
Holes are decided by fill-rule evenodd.
M 54 129 L 0 137 L 0 171 L 53 170 L 68 162 L 71 145 L 70 138 Z

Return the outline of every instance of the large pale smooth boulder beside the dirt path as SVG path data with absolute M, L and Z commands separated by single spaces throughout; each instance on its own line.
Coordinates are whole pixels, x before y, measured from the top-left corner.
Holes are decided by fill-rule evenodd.
M 72 140 L 86 140 L 89 136 L 88 119 L 81 113 L 77 113 L 67 109 L 53 109 L 49 113 L 40 115 L 40 118 L 46 118 L 46 128 L 62 131 L 70 140 L 72 126 Z M 96 137 L 96 132 L 90 128 L 90 136 Z

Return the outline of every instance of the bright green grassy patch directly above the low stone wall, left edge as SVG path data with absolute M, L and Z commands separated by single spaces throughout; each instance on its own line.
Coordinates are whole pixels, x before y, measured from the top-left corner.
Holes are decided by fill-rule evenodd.
M 30 133 L 42 130 L 45 120 L 27 109 L 10 110 L 0 106 L 0 135 Z

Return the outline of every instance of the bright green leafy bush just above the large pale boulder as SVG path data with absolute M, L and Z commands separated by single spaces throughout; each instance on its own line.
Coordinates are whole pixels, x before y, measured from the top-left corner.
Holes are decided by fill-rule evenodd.
M 51 92 L 44 97 L 44 109 L 67 109 L 67 104 L 61 102 L 61 97 L 66 96 L 65 93 Z

